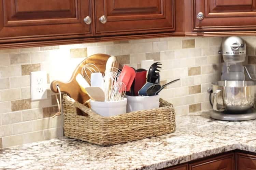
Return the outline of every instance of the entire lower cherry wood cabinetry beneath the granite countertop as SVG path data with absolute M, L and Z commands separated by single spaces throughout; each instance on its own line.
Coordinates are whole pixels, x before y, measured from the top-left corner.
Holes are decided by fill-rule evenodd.
M 236 150 L 165 168 L 165 170 L 256 170 L 256 154 Z

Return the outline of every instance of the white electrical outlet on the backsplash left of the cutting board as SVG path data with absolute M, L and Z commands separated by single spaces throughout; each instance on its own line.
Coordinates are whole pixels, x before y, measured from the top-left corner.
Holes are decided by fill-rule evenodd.
M 47 99 L 46 85 L 45 71 L 30 72 L 31 101 Z

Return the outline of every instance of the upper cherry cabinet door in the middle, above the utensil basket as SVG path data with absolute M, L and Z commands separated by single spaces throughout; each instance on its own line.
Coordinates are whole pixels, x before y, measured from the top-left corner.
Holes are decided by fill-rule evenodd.
M 94 5 L 96 35 L 175 30 L 174 0 L 95 0 Z

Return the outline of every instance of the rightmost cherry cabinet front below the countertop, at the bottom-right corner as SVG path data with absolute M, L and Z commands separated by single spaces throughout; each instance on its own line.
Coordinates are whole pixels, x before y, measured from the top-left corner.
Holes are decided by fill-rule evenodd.
M 256 170 L 256 156 L 237 153 L 237 170 Z

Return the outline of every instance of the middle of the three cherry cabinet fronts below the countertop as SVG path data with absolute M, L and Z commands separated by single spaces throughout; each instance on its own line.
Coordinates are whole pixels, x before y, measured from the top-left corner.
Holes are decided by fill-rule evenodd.
M 189 170 L 234 170 L 234 153 L 189 164 Z

